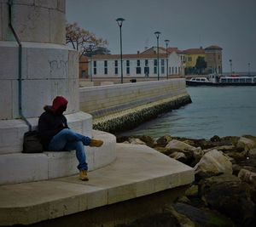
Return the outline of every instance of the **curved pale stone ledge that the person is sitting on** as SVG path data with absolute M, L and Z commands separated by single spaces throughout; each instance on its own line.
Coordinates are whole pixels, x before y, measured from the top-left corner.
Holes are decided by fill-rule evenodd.
M 116 158 L 115 136 L 93 130 L 93 137 L 102 139 L 104 144 L 100 148 L 86 146 L 89 170 L 104 167 Z M 75 151 L 1 155 L 0 184 L 16 184 L 70 176 L 78 173 L 77 166 Z

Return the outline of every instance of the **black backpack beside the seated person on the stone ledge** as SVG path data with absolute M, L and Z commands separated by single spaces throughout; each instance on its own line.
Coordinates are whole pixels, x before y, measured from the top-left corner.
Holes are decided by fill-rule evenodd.
M 41 153 L 44 147 L 40 142 L 38 131 L 28 131 L 24 133 L 22 153 Z

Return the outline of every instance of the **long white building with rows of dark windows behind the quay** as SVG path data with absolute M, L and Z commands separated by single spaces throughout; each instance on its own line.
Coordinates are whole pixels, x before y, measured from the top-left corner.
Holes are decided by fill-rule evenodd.
M 159 75 L 166 77 L 180 75 L 182 61 L 177 53 L 159 54 Z M 158 77 L 158 54 L 123 54 L 123 77 Z M 121 64 L 119 54 L 94 55 L 90 63 L 92 77 L 119 77 Z

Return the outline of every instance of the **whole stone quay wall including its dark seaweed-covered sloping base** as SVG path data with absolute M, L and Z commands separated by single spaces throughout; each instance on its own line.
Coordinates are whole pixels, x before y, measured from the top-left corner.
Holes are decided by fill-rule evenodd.
M 80 109 L 93 128 L 116 133 L 191 102 L 183 78 L 79 88 Z

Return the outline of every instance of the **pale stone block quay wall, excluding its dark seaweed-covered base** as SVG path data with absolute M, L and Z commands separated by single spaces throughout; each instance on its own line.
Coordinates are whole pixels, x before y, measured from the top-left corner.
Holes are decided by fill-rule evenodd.
M 79 90 L 81 111 L 93 116 L 103 116 L 186 93 L 184 79 L 113 84 Z

